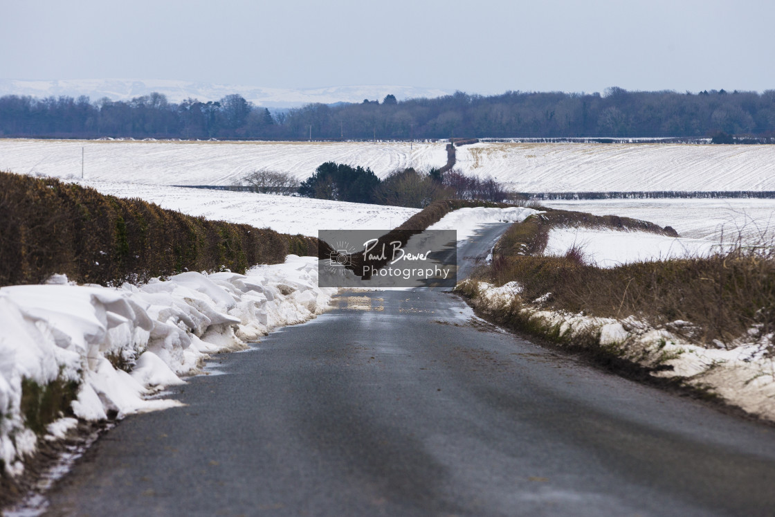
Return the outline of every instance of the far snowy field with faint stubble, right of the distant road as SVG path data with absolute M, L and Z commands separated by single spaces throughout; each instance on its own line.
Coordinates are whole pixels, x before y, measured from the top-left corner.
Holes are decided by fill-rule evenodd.
M 521 192 L 775 191 L 769 145 L 476 143 L 456 167 Z

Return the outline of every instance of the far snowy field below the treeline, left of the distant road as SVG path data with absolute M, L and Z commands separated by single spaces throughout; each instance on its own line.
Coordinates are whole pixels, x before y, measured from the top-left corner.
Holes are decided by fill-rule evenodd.
M 301 180 L 327 161 L 370 167 L 379 177 L 396 169 L 446 164 L 446 143 L 405 142 L 145 142 L 0 140 L 0 171 L 56 178 L 164 185 L 230 185 L 250 171 Z

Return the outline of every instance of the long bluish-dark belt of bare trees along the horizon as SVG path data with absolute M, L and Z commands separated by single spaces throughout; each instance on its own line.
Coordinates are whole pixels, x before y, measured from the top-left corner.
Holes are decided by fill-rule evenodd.
M 153 93 L 131 101 L 0 98 L 0 136 L 263 140 L 775 137 L 775 90 L 599 93 L 457 92 L 398 102 L 311 104 L 270 113 L 240 95 L 175 104 Z M 750 143 L 762 140 L 748 140 Z

